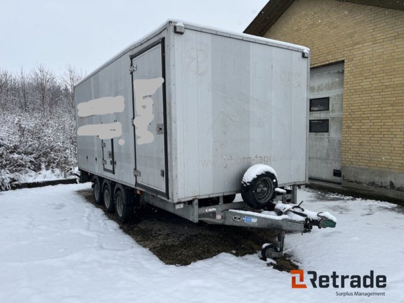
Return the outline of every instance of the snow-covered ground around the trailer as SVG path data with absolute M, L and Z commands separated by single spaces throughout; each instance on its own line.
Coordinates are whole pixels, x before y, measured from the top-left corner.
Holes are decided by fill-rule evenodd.
M 336 228 L 286 235 L 286 250 L 305 270 L 307 289 L 258 255 L 215 258 L 177 267 L 89 204 L 89 184 L 0 192 L 0 302 L 400 302 L 404 299 L 404 212 L 393 204 L 304 189 L 302 205 L 329 211 Z M 195 252 L 197 253 L 197 252 Z M 319 275 L 387 277 L 386 288 L 313 288 Z M 385 292 L 337 296 L 336 292 Z

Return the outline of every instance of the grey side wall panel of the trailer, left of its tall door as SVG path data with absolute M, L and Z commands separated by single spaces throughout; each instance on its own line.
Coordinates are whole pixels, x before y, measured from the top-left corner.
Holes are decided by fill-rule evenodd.
M 121 123 L 122 135 L 114 138 L 115 174 L 104 171 L 102 140 L 98 136 L 77 137 L 79 168 L 123 184 L 134 186 L 134 139 L 131 122 L 132 92 L 129 66 L 129 53 L 126 53 L 75 87 L 76 105 L 105 96 L 115 97 L 122 95 L 125 104 L 124 112 L 77 117 L 76 124 L 78 128 L 87 124 L 106 124 L 116 121 Z M 124 140 L 122 145 L 118 144 L 120 139 Z M 122 143 L 123 141 L 121 140 L 120 142 Z

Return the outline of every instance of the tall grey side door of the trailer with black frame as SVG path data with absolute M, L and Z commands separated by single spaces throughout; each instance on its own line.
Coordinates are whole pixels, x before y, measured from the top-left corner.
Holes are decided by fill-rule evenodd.
M 131 56 L 136 186 L 168 197 L 164 39 Z

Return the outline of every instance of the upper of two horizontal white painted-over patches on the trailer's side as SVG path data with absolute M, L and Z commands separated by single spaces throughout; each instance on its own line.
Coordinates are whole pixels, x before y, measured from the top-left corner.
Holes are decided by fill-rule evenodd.
M 82 102 L 77 105 L 77 115 L 88 117 L 92 115 L 107 115 L 122 113 L 125 109 L 125 98 L 121 95 L 116 97 L 102 97 Z

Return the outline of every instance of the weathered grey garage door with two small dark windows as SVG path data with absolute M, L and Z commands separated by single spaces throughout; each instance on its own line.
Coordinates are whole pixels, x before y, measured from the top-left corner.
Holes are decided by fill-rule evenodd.
M 340 183 L 344 65 L 310 74 L 309 178 Z

